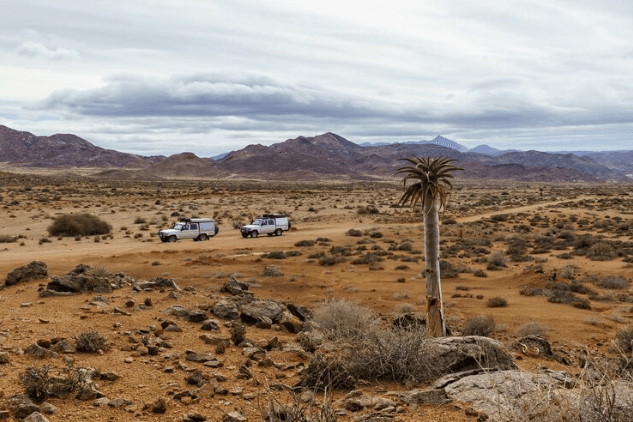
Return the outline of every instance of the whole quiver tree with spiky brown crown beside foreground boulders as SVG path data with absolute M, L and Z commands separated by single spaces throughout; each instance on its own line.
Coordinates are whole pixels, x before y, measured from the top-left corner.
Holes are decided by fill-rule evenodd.
M 407 202 L 413 208 L 418 202 L 422 204 L 424 215 L 424 259 L 426 274 L 427 300 L 427 332 L 433 337 L 446 336 L 444 323 L 444 307 L 442 304 L 442 284 L 440 281 L 440 222 L 439 211 L 446 206 L 448 195 L 453 188 L 449 179 L 452 172 L 463 170 L 451 165 L 451 158 L 404 158 L 411 163 L 396 171 L 403 174 L 402 183 L 405 192 L 400 204 Z M 407 187 L 407 181 L 413 184 Z

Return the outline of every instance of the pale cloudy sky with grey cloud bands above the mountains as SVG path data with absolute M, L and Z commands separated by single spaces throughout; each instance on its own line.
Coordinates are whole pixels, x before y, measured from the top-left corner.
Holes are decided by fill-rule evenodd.
M 37 135 L 633 150 L 630 0 L 21 0 L 0 21 L 0 124 Z

